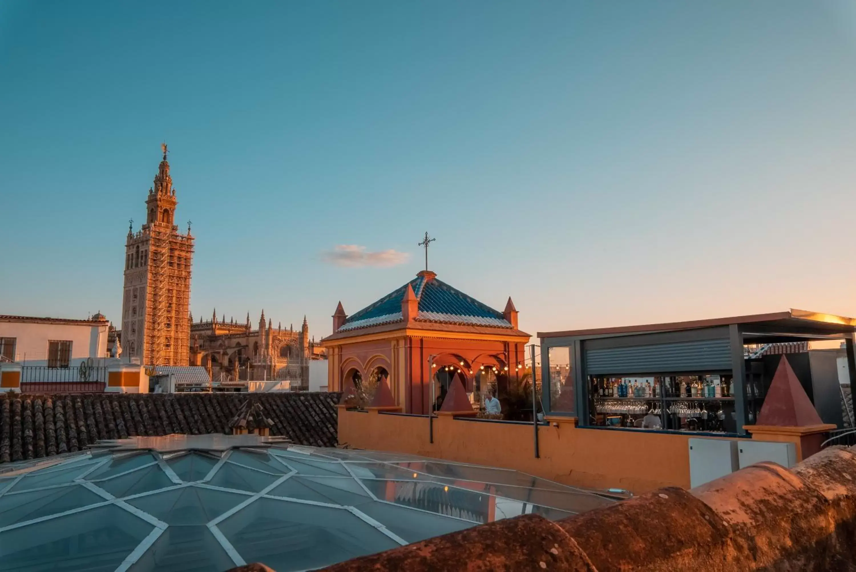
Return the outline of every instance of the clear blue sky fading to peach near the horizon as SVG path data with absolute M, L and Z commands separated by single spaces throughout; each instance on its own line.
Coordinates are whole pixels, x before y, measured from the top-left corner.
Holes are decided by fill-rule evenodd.
M 424 266 L 537 331 L 856 316 L 856 3 L 0 3 L 0 313 L 116 320 L 160 144 L 191 309 Z

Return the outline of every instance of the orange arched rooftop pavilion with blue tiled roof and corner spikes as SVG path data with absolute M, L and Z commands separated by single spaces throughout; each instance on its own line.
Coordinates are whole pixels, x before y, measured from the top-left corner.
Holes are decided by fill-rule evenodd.
M 457 381 L 468 393 L 485 384 L 502 393 L 524 367 L 529 338 L 517 327 L 511 298 L 499 312 L 437 280 L 434 272 L 420 271 L 351 316 L 339 302 L 333 334 L 321 343 L 330 391 L 385 378 L 397 407 L 427 414 L 431 384 L 437 395 Z

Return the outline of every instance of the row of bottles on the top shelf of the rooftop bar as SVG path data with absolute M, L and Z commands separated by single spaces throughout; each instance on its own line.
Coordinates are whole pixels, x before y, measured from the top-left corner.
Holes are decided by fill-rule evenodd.
M 651 379 L 653 383 L 651 383 Z M 591 378 L 592 394 L 598 397 L 706 398 L 732 397 L 730 376 L 657 376 L 654 378 Z M 664 395 L 663 395 L 664 392 Z

